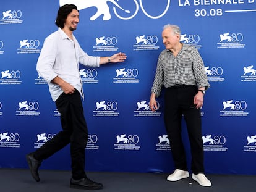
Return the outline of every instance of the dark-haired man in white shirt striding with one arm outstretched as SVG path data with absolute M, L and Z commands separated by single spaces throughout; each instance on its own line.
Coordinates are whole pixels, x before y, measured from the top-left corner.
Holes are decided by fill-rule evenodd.
M 36 70 L 48 82 L 51 98 L 61 114 L 62 131 L 35 152 L 27 154 L 26 159 L 32 177 L 39 182 L 38 168 L 41 162 L 70 144 L 70 187 L 98 190 L 103 188 L 103 185 L 93 182 L 85 173 L 88 130 L 81 101 L 83 88 L 79 63 L 100 67 L 101 64 L 109 62 L 124 62 L 126 54 L 119 52 L 110 57 L 88 56 L 73 35 L 78 23 L 79 11 L 75 5 L 66 4 L 60 7 L 56 19 L 58 31 L 45 39 L 41 49 Z

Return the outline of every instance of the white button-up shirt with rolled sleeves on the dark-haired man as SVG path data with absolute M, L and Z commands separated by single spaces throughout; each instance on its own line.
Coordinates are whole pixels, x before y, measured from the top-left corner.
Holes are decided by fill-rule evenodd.
M 88 67 L 99 67 L 100 57 L 88 56 L 75 36 L 71 40 L 61 28 L 45 39 L 36 70 L 47 81 L 53 101 L 63 93 L 59 85 L 51 83 L 57 76 L 74 86 L 83 97 L 79 63 Z

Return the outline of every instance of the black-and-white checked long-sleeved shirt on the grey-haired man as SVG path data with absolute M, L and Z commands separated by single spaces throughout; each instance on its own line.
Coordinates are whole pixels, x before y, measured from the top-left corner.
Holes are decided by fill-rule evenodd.
M 158 97 L 163 86 L 169 88 L 174 85 L 210 87 L 202 57 L 193 46 L 183 43 L 176 57 L 168 49 L 163 50 L 158 57 L 151 93 Z

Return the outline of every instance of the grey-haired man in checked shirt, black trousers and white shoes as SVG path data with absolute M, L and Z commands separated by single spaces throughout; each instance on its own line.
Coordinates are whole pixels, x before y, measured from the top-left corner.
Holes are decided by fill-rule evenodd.
M 166 49 L 158 57 L 150 108 L 156 110 L 156 97 L 160 96 L 164 86 L 164 123 L 176 167 L 167 180 L 176 182 L 189 177 L 181 136 L 181 119 L 184 115 L 192 154 L 192 179 L 202 186 L 211 186 L 203 166 L 200 109 L 205 90 L 210 87 L 203 60 L 197 49 L 180 42 L 181 30 L 177 25 L 164 25 L 162 38 Z

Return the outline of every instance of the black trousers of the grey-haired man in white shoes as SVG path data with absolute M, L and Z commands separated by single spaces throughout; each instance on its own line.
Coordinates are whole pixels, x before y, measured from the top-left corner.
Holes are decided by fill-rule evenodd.
M 166 88 L 164 96 L 164 123 L 170 140 L 175 167 L 187 170 L 186 154 L 181 137 L 183 114 L 189 135 L 192 154 L 191 169 L 194 174 L 204 172 L 201 111 L 195 108 L 193 103 L 197 90 L 197 86 L 177 86 L 176 88 Z

